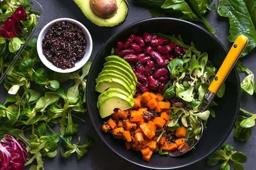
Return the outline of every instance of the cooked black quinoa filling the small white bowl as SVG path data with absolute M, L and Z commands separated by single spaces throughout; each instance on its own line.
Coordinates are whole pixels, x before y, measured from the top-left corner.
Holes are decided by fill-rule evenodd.
M 75 67 L 85 54 L 87 41 L 82 29 L 68 21 L 55 22 L 42 39 L 44 56 L 63 70 Z

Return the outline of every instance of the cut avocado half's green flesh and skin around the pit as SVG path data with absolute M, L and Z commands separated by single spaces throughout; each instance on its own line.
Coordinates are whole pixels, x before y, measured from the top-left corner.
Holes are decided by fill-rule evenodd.
M 90 8 L 90 0 L 73 0 L 77 6 L 82 10 L 84 15 L 97 26 L 102 27 L 113 27 L 120 25 L 126 19 L 128 14 L 128 3 L 126 0 L 116 0 L 117 1 L 117 12 L 113 17 L 104 19 L 97 16 Z

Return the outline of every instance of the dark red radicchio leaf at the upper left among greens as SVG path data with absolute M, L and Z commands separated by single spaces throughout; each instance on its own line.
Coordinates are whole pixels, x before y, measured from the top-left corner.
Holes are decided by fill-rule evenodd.
M 22 34 L 23 25 L 20 21 L 26 21 L 27 15 L 24 7 L 18 7 L 14 13 L 7 18 L 0 28 L 0 37 L 13 38 Z

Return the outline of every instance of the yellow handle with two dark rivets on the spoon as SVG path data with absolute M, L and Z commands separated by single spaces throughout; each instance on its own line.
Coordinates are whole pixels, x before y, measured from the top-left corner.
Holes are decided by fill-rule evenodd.
M 227 53 L 227 56 L 221 67 L 219 68 L 214 80 L 210 84 L 208 90 L 214 94 L 218 92 L 218 89 L 221 87 L 222 83 L 226 80 L 228 74 L 230 74 L 232 68 L 238 61 L 240 55 L 242 54 L 243 50 L 245 49 L 246 45 L 248 44 L 248 38 L 244 35 L 239 35 L 230 51 Z

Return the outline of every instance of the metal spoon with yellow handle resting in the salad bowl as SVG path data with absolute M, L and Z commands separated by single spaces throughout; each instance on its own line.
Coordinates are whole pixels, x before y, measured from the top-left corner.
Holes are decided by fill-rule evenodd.
M 218 89 L 224 83 L 227 76 L 230 74 L 232 68 L 238 61 L 243 50 L 247 46 L 248 41 L 249 41 L 248 38 L 244 35 L 239 35 L 236 38 L 236 40 L 234 41 L 234 44 L 230 48 L 230 51 L 227 53 L 226 58 L 221 64 L 221 67 L 219 68 L 217 74 L 215 75 L 214 80 L 210 84 L 208 91 L 205 93 L 205 96 L 203 98 L 203 101 L 200 107 L 201 111 L 205 111 L 205 109 L 207 109 L 207 107 L 210 105 L 210 103 L 215 97 L 215 94 L 218 92 Z M 201 126 L 202 126 L 201 134 L 199 139 L 196 140 L 196 142 L 194 142 L 194 139 L 188 139 L 188 141 L 185 142 L 185 145 L 183 145 L 182 148 L 180 148 L 179 150 L 169 151 L 168 155 L 170 155 L 171 157 L 178 157 L 178 156 L 184 155 L 185 153 L 188 153 L 192 148 L 194 148 L 194 146 L 199 142 L 203 134 L 202 121 L 201 121 Z

